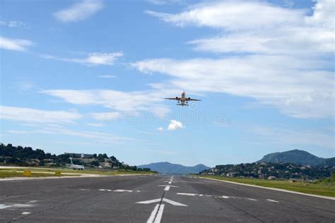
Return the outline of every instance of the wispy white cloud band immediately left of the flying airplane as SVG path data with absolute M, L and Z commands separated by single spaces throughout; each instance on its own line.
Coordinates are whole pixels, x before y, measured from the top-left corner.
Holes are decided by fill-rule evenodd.
M 117 90 L 44 90 L 42 93 L 59 97 L 71 104 L 100 105 L 115 111 L 134 116 L 138 111 L 148 111 L 158 116 L 163 116 L 170 111 L 161 104 L 165 95 L 170 95 L 172 90 L 145 90 L 122 92 Z M 127 116 L 129 117 L 129 116 Z M 102 114 L 100 118 L 105 118 Z

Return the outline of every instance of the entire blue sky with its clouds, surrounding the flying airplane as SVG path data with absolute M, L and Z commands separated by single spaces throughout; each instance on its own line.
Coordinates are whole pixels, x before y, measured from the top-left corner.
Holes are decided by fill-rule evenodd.
M 1 142 L 128 164 L 334 157 L 334 2 L 1 1 Z M 164 97 L 202 101 L 177 107 Z

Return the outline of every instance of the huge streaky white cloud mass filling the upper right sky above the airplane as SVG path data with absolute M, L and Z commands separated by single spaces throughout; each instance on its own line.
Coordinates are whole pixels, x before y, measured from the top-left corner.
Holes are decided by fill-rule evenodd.
M 334 117 L 329 106 L 335 101 L 334 4 L 317 1 L 312 16 L 264 1 L 206 2 L 176 14 L 146 11 L 180 27 L 218 30 L 217 36 L 188 42 L 218 59 L 148 59 L 131 65 L 172 76 L 170 83 L 187 91 L 252 97 L 298 118 Z

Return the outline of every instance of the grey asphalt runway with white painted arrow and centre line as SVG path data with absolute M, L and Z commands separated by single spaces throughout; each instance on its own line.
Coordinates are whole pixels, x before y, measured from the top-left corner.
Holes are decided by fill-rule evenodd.
M 0 222 L 335 222 L 335 201 L 188 176 L 0 181 Z

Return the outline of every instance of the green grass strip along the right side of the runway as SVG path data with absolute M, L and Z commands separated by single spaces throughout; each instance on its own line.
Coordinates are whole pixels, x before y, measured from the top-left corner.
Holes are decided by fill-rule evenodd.
M 199 176 L 197 176 L 199 177 Z M 223 181 L 233 181 L 237 183 L 246 183 L 257 186 L 264 186 L 269 188 L 280 188 L 288 191 L 297 191 L 301 193 L 310 193 L 315 195 L 325 195 L 335 197 L 335 180 L 329 179 L 329 181 L 317 181 L 315 183 L 307 182 L 290 182 L 290 181 L 271 181 L 263 179 L 248 179 L 248 178 L 235 178 L 235 177 L 224 177 L 224 176 L 200 176 L 210 179 L 218 179 Z

